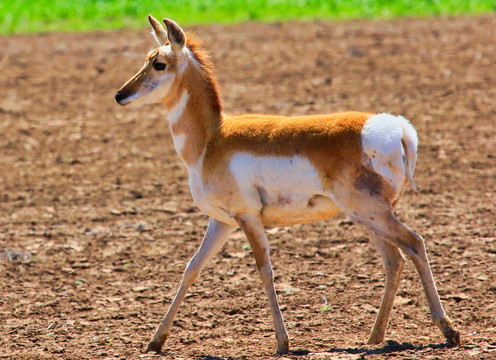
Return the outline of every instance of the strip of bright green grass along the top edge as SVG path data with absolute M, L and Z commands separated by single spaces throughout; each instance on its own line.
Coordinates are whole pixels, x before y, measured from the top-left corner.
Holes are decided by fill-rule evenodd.
M 0 34 L 139 28 L 146 15 L 181 25 L 247 20 L 480 14 L 496 0 L 0 0 Z

